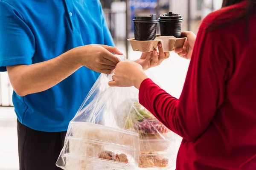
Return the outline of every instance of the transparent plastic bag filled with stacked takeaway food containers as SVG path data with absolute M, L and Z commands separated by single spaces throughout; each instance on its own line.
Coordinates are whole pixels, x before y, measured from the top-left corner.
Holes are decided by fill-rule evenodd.
M 99 76 L 70 121 L 56 165 L 64 170 L 173 167 L 174 133 L 139 104 L 136 88 L 109 87 L 111 77 Z

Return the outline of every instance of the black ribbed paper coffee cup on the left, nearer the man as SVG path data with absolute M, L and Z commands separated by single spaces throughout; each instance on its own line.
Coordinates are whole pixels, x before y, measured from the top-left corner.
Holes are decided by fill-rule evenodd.
M 157 31 L 157 16 L 135 16 L 134 20 L 134 37 L 137 41 L 154 40 Z

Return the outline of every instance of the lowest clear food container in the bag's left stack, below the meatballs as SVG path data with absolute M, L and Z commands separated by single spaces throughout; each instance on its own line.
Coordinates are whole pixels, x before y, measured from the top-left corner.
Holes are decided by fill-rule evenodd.
M 135 162 L 120 163 L 103 159 L 88 159 L 65 154 L 65 170 L 134 170 L 138 167 Z

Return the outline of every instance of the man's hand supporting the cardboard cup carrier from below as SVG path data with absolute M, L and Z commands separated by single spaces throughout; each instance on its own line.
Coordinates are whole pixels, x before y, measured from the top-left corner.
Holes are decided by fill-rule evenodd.
M 137 59 L 135 62 L 140 64 L 143 67 L 143 70 L 147 70 L 148 68 L 155 67 L 160 65 L 164 59 L 169 58 L 169 52 L 163 52 L 162 44 L 158 44 L 158 51 L 154 49 L 151 52 L 142 53 L 140 59 Z

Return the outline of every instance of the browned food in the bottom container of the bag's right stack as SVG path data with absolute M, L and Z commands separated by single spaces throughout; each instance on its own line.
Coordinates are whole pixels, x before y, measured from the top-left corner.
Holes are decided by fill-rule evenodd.
M 158 156 L 154 153 L 142 153 L 139 158 L 140 168 L 149 167 L 167 167 L 169 164 L 169 159 Z

